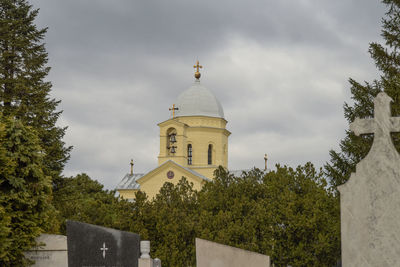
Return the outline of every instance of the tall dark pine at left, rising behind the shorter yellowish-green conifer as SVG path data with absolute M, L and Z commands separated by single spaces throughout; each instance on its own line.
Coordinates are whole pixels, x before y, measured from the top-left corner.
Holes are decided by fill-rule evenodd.
M 34 10 L 26 0 L 0 1 L 0 113 L 33 127 L 44 150 L 44 171 L 55 181 L 69 158 L 71 147 L 56 126 L 60 101 L 50 98 L 50 68 L 42 43 L 47 28 L 38 29 Z

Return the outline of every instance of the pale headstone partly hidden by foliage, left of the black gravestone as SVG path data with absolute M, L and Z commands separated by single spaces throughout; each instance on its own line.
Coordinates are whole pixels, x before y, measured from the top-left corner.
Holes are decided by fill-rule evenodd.
M 26 258 L 35 261 L 32 267 L 68 266 L 66 236 L 42 234 L 36 238 L 36 242 L 38 247 L 24 253 Z

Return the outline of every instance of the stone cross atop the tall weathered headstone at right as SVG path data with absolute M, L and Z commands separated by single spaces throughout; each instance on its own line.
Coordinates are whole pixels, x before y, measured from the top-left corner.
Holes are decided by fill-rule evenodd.
M 350 124 L 350 130 L 357 136 L 373 133 L 374 142 L 382 139 L 391 140 L 390 133 L 400 132 L 400 117 L 392 117 L 390 102 L 393 100 L 386 93 L 379 93 L 374 99 L 374 118 L 356 118 Z

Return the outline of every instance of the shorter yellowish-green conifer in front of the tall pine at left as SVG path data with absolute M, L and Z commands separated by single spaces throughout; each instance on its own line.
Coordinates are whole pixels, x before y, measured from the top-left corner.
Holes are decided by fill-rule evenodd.
M 3 119 L 0 124 L 0 266 L 24 266 L 22 252 L 54 227 L 51 179 L 32 127 Z

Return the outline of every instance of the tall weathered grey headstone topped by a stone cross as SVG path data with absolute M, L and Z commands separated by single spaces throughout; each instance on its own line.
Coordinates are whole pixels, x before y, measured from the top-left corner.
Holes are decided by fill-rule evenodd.
M 390 133 L 400 131 L 385 93 L 374 99 L 374 118 L 357 118 L 350 130 L 374 134 L 368 155 L 339 186 L 344 267 L 400 266 L 400 156 Z

